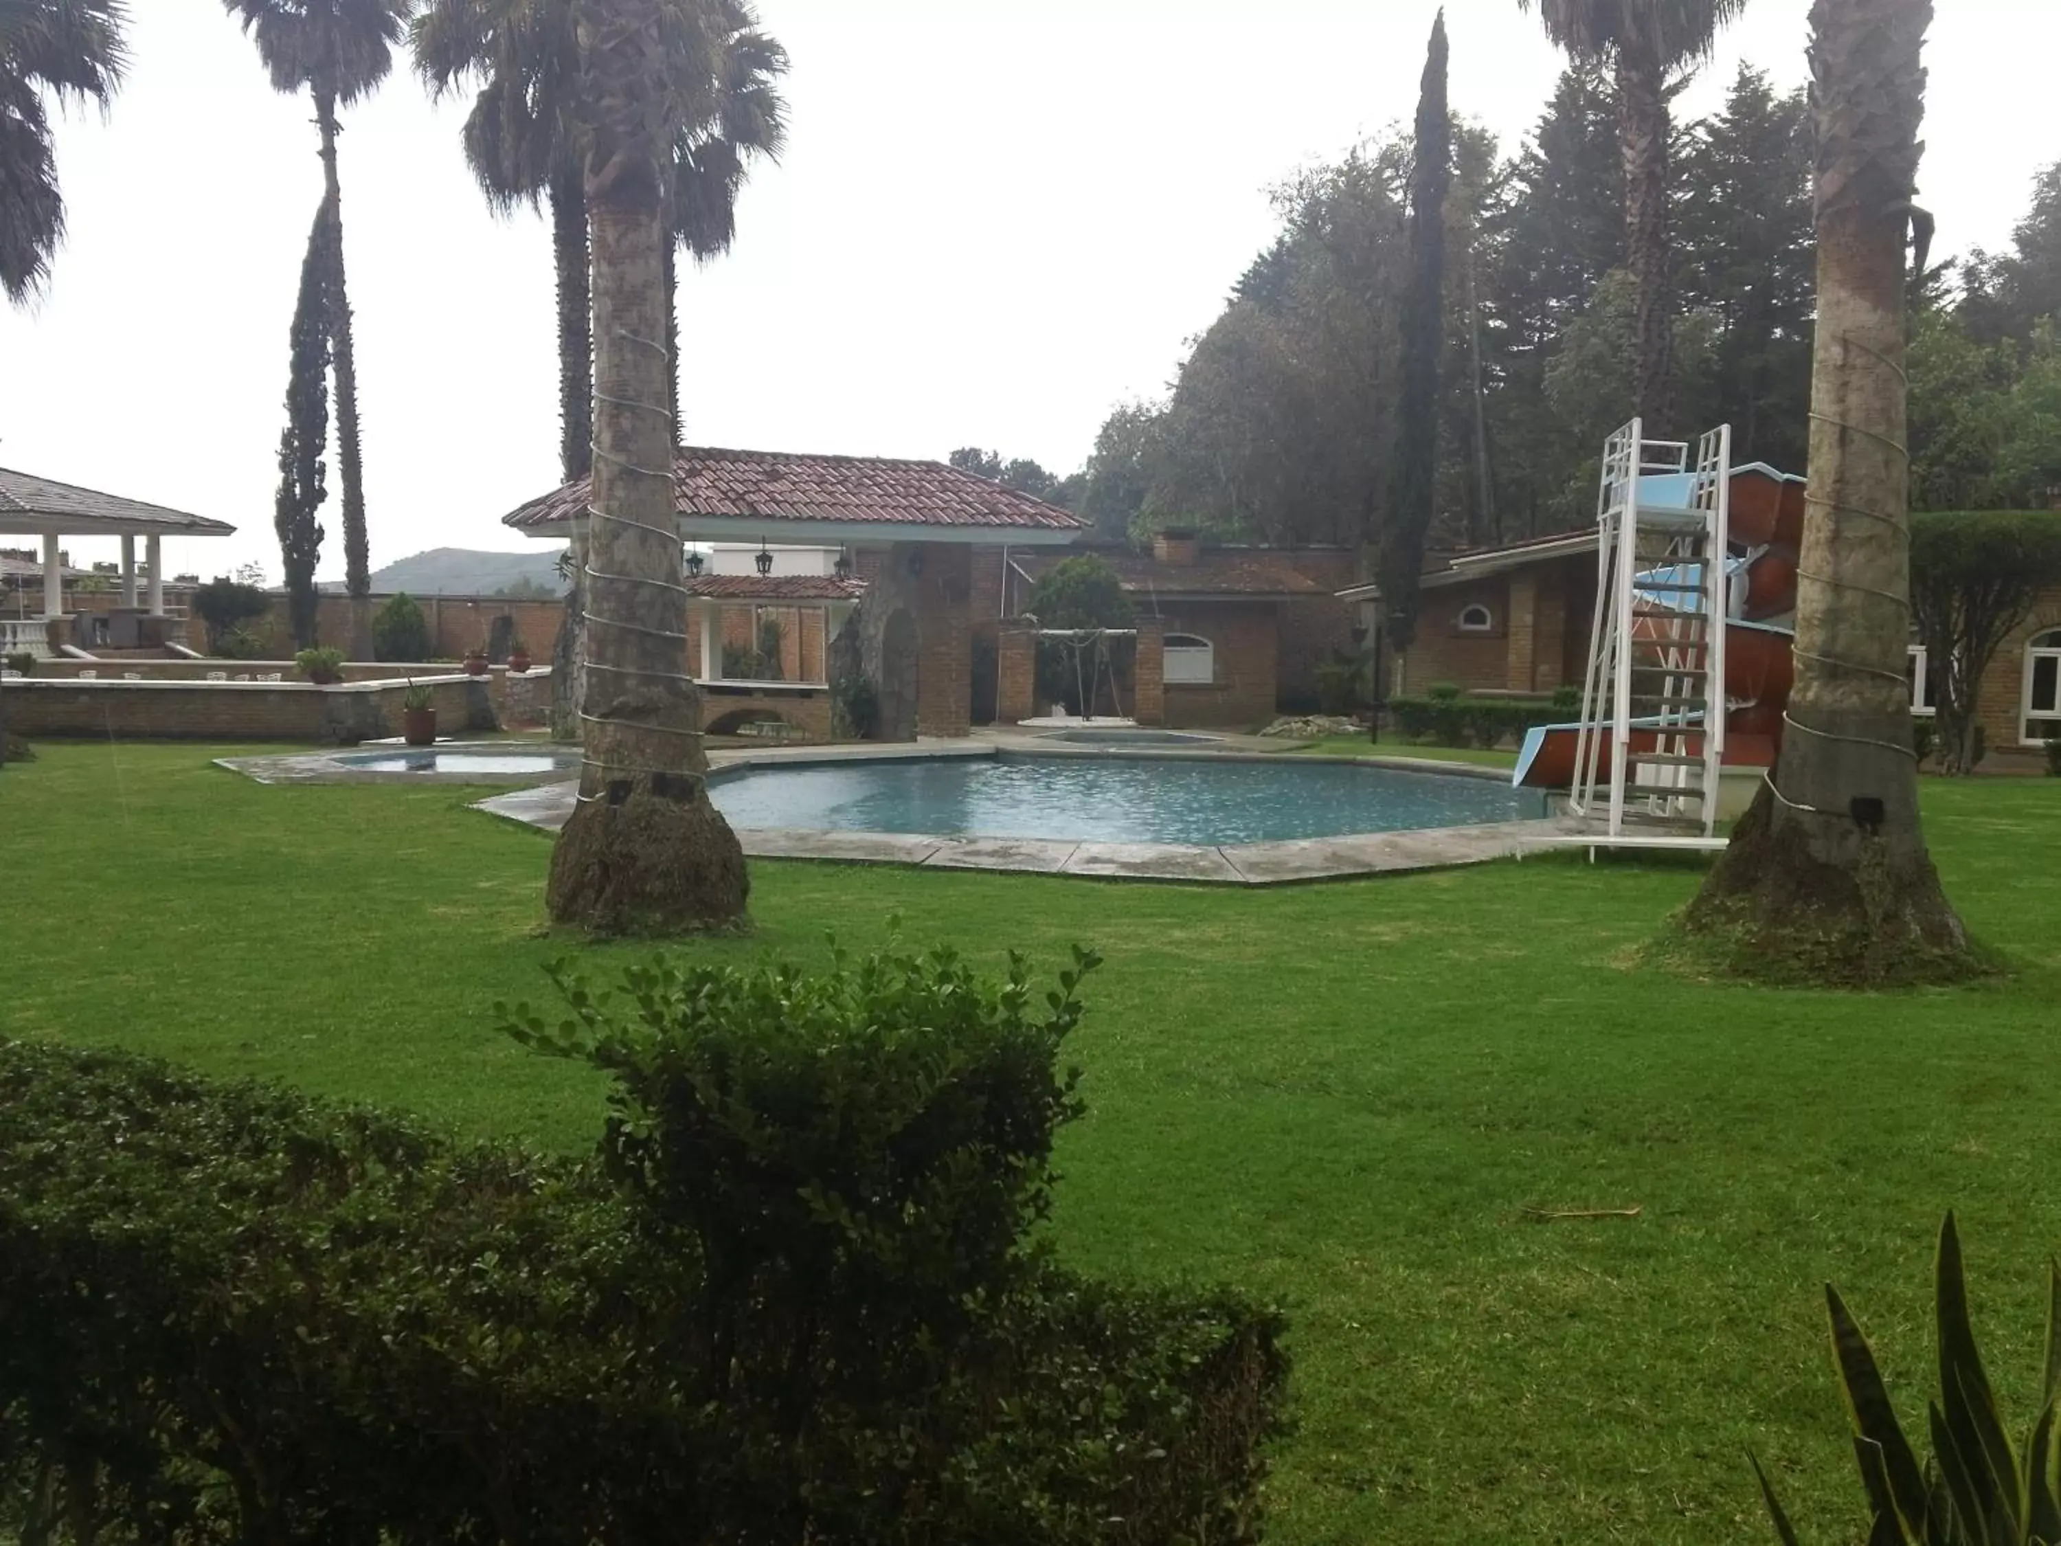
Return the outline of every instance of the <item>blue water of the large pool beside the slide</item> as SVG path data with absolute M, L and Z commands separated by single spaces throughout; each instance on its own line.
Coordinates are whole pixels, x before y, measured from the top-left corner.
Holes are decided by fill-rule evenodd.
M 1270 843 L 1546 814 L 1500 779 L 1290 759 L 995 757 L 752 769 L 709 785 L 732 827 L 1107 843 Z

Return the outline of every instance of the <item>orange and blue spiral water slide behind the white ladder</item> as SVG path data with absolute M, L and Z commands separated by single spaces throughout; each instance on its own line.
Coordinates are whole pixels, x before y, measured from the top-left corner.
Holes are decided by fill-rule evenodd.
M 1772 767 L 1783 734 L 1783 709 L 1795 676 L 1791 647 L 1795 643 L 1797 554 L 1803 544 L 1803 478 L 1777 472 L 1764 462 L 1748 462 L 1729 478 L 1729 557 L 1725 569 L 1725 767 Z M 1638 480 L 1638 503 L 1645 509 L 1688 509 L 1690 474 L 1657 474 Z M 1632 639 L 1653 641 L 1667 631 L 1665 612 L 1682 606 L 1682 590 L 1671 581 L 1680 575 L 1667 569 L 1645 571 L 1638 579 L 1655 585 L 1641 596 L 1645 612 L 1632 629 Z M 1680 728 L 1667 732 L 1680 738 Z M 1517 752 L 1513 783 L 1538 789 L 1566 789 L 1575 781 L 1575 748 L 1581 724 L 1538 726 L 1525 734 Z M 1595 728 L 1601 740 L 1601 765 L 1610 759 L 1612 732 Z M 1630 750 L 1651 752 L 1661 732 L 1636 726 Z M 1688 734 L 1696 750 L 1700 732 Z

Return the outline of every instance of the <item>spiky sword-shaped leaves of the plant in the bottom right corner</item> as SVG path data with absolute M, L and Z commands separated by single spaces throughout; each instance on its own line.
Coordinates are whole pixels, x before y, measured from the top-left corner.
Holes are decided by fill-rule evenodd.
M 1869 1546 L 2051 1546 L 2061 1540 L 2061 1264 L 2049 1264 L 2047 1367 L 2040 1414 L 2014 1445 L 1968 1323 L 1954 1214 L 1939 1229 L 1933 1313 L 1939 1327 L 1939 1396 L 1929 1412 L 1933 1453 L 1921 1464 L 1896 1420 L 1873 1348 L 1826 1286 L 1832 1360 L 1853 1420 L 1853 1453 L 1867 1494 Z M 1760 1461 L 1760 1494 L 1787 1546 L 1795 1527 Z

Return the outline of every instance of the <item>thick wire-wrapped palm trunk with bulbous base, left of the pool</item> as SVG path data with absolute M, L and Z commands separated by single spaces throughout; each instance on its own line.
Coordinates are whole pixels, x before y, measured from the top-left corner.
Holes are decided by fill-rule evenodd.
M 674 0 L 577 12 L 594 251 L 594 495 L 585 763 L 546 903 L 604 934 L 744 913 L 744 853 L 709 804 L 701 695 L 686 672 L 666 344 L 668 183 L 680 124 L 707 117 L 719 37 Z

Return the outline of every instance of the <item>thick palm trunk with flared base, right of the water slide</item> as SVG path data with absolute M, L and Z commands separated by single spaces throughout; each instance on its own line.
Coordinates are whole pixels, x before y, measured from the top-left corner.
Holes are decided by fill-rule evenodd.
M 1931 0 L 1816 0 L 1810 21 L 1818 332 L 1795 686 L 1775 773 L 1688 923 L 1777 971 L 1948 979 L 1970 952 L 1919 827 L 1904 682 L 1904 249 Z

